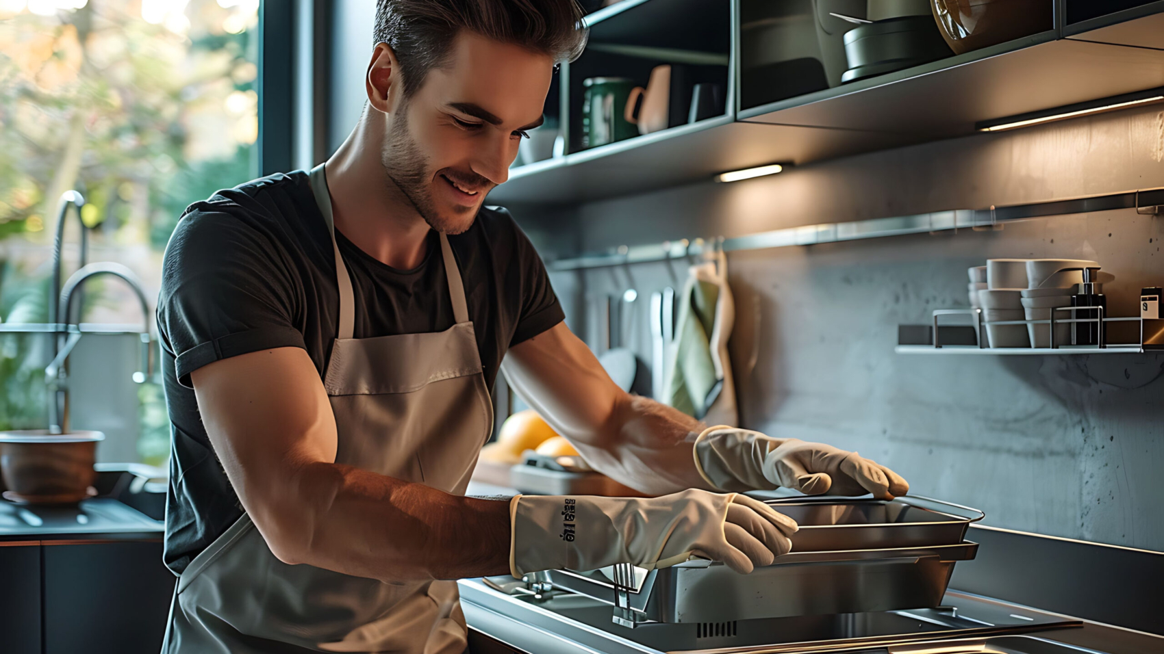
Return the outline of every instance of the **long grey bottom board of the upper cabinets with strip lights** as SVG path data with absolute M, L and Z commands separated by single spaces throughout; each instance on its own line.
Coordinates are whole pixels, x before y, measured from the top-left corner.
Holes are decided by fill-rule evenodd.
M 651 34 L 662 31 L 647 17 L 674 22 L 682 9 L 698 6 L 703 6 L 700 0 L 624 0 L 588 17 L 596 21 L 591 38 L 655 47 L 654 37 L 634 36 L 644 24 L 652 26 Z M 518 166 L 489 199 L 599 200 L 710 180 L 719 172 L 766 163 L 807 164 L 965 136 L 984 121 L 1162 87 L 1164 13 L 1150 12 L 1164 12 L 1164 1 L 1069 26 L 1064 30 L 1071 31 L 1069 38 L 1048 30 Z M 1090 29 L 1072 31 L 1079 26 Z M 704 48 L 711 47 L 701 43 L 697 50 Z M 730 85 L 734 86 L 733 79 Z M 730 90 L 729 106 L 734 95 Z M 563 111 L 569 113 L 568 105 Z

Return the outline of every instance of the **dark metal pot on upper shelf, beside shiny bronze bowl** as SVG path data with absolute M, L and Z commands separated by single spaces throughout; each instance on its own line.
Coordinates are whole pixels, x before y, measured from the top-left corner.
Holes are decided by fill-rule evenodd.
M 949 57 L 934 16 L 897 16 L 845 33 L 849 70 L 842 81 L 854 81 Z

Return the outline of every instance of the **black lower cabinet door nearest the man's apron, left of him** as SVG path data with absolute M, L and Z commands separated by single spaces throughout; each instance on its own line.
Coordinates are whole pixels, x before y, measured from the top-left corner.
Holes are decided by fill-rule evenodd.
M 42 552 L 44 654 L 161 651 L 177 583 L 161 542 L 45 542 Z

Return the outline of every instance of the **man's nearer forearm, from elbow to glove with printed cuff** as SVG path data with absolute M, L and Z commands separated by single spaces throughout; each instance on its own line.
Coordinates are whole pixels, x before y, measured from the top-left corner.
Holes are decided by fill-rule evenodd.
M 505 500 L 450 495 L 349 465 L 310 463 L 263 535 L 276 555 L 378 580 L 509 573 Z M 282 550 L 282 552 L 281 552 Z

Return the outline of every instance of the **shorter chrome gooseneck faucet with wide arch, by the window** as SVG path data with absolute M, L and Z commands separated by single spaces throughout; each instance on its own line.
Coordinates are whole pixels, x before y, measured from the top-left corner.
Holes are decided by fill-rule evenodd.
M 134 372 L 133 379 L 139 384 L 144 383 L 149 376 L 154 374 L 154 362 L 150 358 L 150 343 L 152 342 L 152 339 L 150 337 L 151 314 L 149 311 L 149 301 L 146 299 L 146 291 L 142 289 L 142 284 L 137 279 L 137 276 L 134 275 L 133 270 L 129 270 L 129 268 L 120 263 L 112 262 L 83 265 L 80 270 L 73 272 L 72 276 L 65 282 L 64 287 L 59 292 L 59 305 L 55 307 L 55 314 L 61 317 L 62 324 L 65 326 L 64 328 L 68 329 L 68 326 L 72 324 L 73 305 L 77 304 L 74 292 L 80 290 L 81 284 L 86 279 L 98 275 L 113 275 L 114 277 L 120 277 L 126 284 L 129 285 L 130 289 L 133 289 L 134 294 L 137 296 L 137 301 L 141 304 L 142 308 L 143 321 L 142 330 L 139 333 L 139 339 L 141 340 L 142 365 L 136 372 Z M 78 317 L 78 324 L 80 320 Z M 81 334 L 79 329 L 70 333 L 69 339 L 56 353 L 52 362 L 44 369 L 44 381 L 49 384 L 49 388 L 52 391 L 49 397 L 49 433 L 51 434 L 69 433 L 69 386 L 66 381 L 68 372 L 65 370 L 65 360 L 69 358 L 69 354 L 77 344 L 77 341 L 80 340 L 80 336 Z

